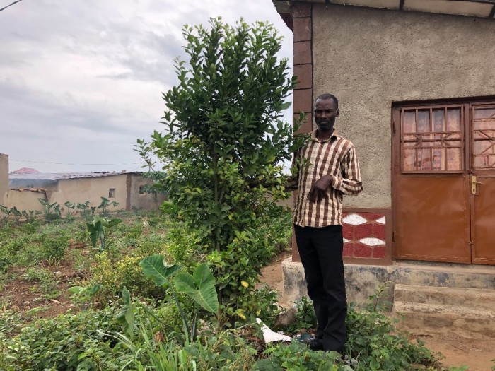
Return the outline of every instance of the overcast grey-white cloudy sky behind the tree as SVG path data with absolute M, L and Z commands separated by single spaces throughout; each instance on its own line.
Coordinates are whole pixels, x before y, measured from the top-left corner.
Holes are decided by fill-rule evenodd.
M 269 20 L 291 59 L 291 31 L 271 0 L 23 0 L 0 11 L 0 153 L 10 170 L 141 170 L 133 146 L 163 126 L 182 25 L 216 16 Z

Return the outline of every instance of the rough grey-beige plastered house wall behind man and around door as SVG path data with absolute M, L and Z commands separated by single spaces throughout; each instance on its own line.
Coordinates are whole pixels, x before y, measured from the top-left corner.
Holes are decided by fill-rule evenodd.
M 364 191 L 346 206 L 391 207 L 394 101 L 495 95 L 495 21 L 313 4 L 313 96 L 334 93 L 335 127 L 356 145 Z

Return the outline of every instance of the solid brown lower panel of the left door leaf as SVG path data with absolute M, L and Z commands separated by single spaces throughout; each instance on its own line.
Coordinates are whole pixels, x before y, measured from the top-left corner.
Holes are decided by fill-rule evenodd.
M 401 177 L 395 208 L 396 257 L 470 262 L 468 192 L 464 176 Z

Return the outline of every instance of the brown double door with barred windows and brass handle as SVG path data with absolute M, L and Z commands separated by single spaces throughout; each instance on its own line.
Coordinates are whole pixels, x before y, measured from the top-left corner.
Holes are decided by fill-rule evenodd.
M 495 264 L 492 114 L 495 105 L 395 109 L 397 259 Z

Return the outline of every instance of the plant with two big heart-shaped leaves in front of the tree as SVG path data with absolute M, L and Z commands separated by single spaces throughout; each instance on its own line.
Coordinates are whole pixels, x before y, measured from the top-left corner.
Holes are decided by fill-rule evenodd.
M 199 264 L 194 269 L 192 275 L 185 272 L 177 273 L 180 270 L 180 266 L 177 264 L 165 264 L 165 260 L 161 254 L 144 258 L 139 263 L 139 266 L 143 269 L 144 275 L 152 278 L 156 285 L 166 287 L 170 290 L 179 310 L 180 317 L 182 317 L 186 343 L 189 343 L 190 338 L 194 341 L 197 337 L 199 307 L 210 313 L 216 313 L 219 310 L 219 298 L 215 288 L 216 280 L 209 266 L 207 264 Z M 175 273 L 177 274 L 175 275 Z M 170 278 L 173 278 L 173 285 L 170 284 Z M 185 293 L 194 300 L 194 317 L 191 326 L 187 323 L 187 318 L 177 299 L 177 293 Z

